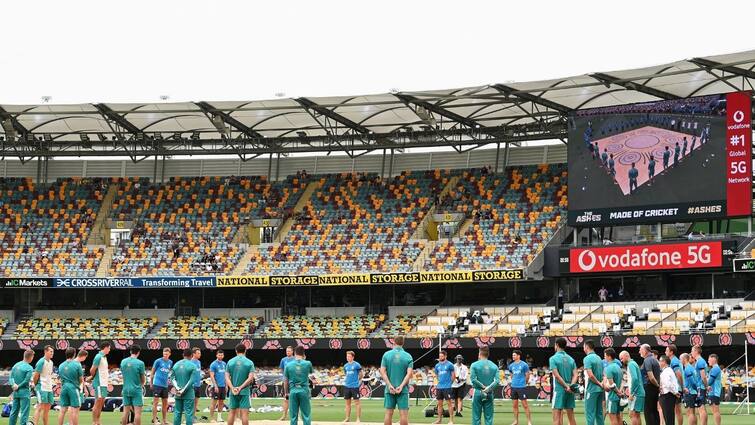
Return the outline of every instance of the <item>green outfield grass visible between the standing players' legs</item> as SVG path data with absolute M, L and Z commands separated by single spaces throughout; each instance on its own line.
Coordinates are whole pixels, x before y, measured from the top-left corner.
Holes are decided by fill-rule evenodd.
M 146 403 L 151 403 L 151 398 L 146 398 L 144 401 Z M 435 420 L 435 418 L 426 418 L 424 416 L 424 410 L 425 406 L 428 405 L 430 400 L 412 400 L 411 406 L 410 406 L 410 418 L 409 421 L 414 424 L 429 424 Z M 252 407 L 257 409 L 263 406 L 280 406 L 281 400 L 276 399 L 255 399 L 252 403 Z M 530 405 L 532 407 L 532 422 L 535 425 L 547 425 L 551 424 L 551 410 L 550 405 L 547 402 L 530 402 Z M 203 399 L 200 402 L 200 409 L 204 410 L 205 408 L 209 407 L 209 401 Z M 312 420 L 313 423 L 318 422 L 340 422 L 344 418 L 343 413 L 344 408 L 344 402 L 341 399 L 314 399 L 312 400 Z M 509 400 L 498 400 L 495 404 L 495 424 L 504 424 L 508 425 L 512 423 L 513 421 L 513 415 L 512 415 L 512 406 L 511 401 Z M 745 424 L 753 424 L 755 423 L 755 404 L 751 407 L 751 410 L 753 411 L 753 414 L 751 416 L 743 416 L 743 415 L 733 415 L 732 412 L 736 408 L 735 404 L 726 404 L 721 406 L 721 411 L 723 413 L 722 417 L 722 423 L 726 425 L 745 425 Z M 710 410 L 710 409 L 709 409 Z M 382 399 L 372 399 L 372 400 L 362 400 L 362 422 L 371 422 L 371 423 L 382 423 L 383 421 L 383 400 Z M 198 416 L 208 414 L 206 412 L 199 413 Z M 250 419 L 252 421 L 254 420 L 277 420 L 281 415 L 280 411 L 270 411 L 270 412 L 264 412 L 264 413 L 251 413 Z M 353 417 L 354 413 L 352 413 L 352 421 L 354 420 Z M 469 424 L 471 421 L 471 404 L 470 402 L 465 403 L 464 417 L 461 418 L 454 418 L 454 422 L 456 424 Z M 577 409 L 575 409 L 575 415 L 577 418 L 578 424 L 584 424 L 585 418 L 582 414 L 582 408 L 581 404 L 577 403 Z M 150 420 L 152 418 L 151 413 L 151 405 L 145 406 L 145 413 L 143 414 L 143 420 L 142 423 L 144 425 L 148 425 L 150 423 Z M 158 414 L 159 418 L 159 414 Z M 223 414 L 223 419 L 227 418 L 227 414 Z M 57 412 L 51 412 L 50 413 L 50 423 L 51 424 L 57 424 L 58 414 Z M 117 425 L 120 420 L 120 412 L 104 412 L 102 414 L 102 423 L 103 425 Z M 171 422 L 173 420 L 173 414 L 168 414 L 168 421 Z M 398 413 L 396 414 L 395 420 L 398 420 Z M 628 415 L 625 415 L 625 420 L 627 423 Z M 7 419 L 4 419 L 3 422 L 6 422 Z M 713 423 L 713 417 L 709 413 L 709 419 L 708 423 Z M 300 421 L 301 422 L 301 421 Z M 444 423 L 448 422 L 448 418 L 444 418 Z M 524 411 L 520 412 L 520 418 L 519 422 L 526 425 L 526 419 L 524 417 Z M 81 414 L 81 425 L 91 425 L 92 423 L 92 412 L 82 412 Z M 608 422 L 606 422 L 608 423 Z M 686 423 L 686 421 L 685 421 Z

